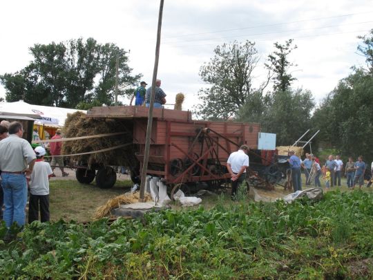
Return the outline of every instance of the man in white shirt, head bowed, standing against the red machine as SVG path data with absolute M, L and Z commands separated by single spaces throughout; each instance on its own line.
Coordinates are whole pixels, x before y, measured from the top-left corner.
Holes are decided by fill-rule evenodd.
M 246 180 L 246 168 L 249 167 L 249 147 L 242 145 L 238 151 L 231 153 L 227 160 L 227 169 L 231 174 L 232 199 L 236 197 L 237 187 Z

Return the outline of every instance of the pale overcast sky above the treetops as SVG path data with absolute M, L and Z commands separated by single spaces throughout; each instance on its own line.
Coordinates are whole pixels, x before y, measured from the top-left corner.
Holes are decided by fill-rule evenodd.
M 49 44 L 93 37 L 131 50 L 133 73 L 151 84 L 155 56 L 158 0 L 106 1 L 1 1 L 0 74 L 14 73 L 32 57 L 33 44 Z M 290 60 L 298 80 L 295 87 L 312 91 L 321 100 L 350 67 L 365 66 L 356 53 L 373 28 L 372 0 L 165 0 L 158 77 L 173 103 L 175 94 L 186 94 L 184 109 L 198 103 L 198 90 L 205 86 L 200 66 L 213 56 L 213 49 L 229 41 L 255 41 L 260 55 L 258 84 L 265 78 L 263 64 L 281 44 L 294 39 L 298 46 Z M 0 86 L 0 96 L 5 89 Z

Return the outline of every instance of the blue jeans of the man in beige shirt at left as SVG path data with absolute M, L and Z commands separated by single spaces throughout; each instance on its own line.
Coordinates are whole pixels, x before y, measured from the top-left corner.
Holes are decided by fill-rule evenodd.
M 10 227 L 16 222 L 20 227 L 25 225 L 26 203 L 27 203 L 27 183 L 24 174 L 2 173 L 1 187 L 4 192 L 5 210 L 3 220 L 6 227 Z

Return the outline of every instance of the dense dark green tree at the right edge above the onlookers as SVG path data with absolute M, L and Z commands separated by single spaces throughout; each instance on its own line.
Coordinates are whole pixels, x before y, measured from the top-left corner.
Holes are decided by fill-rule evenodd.
M 313 123 L 320 137 L 345 155 L 373 159 L 373 77 L 361 69 L 341 80 L 316 109 Z

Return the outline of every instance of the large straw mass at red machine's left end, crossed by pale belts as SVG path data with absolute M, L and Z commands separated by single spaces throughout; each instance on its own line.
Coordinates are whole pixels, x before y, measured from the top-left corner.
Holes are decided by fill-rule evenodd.
M 68 115 L 63 131 L 65 138 L 128 131 L 128 133 L 119 136 L 66 141 L 62 146 L 62 153 L 64 155 L 98 151 L 119 144 L 133 142 L 132 129 L 126 127 L 124 121 L 111 118 L 86 118 L 86 115 L 79 111 Z M 127 147 L 113 149 L 111 151 L 74 156 L 72 159 L 78 162 L 84 162 L 88 164 L 88 167 L 95 164 L 128 167 L 131 166 L 131 162 L 135 162 L 135 154 L 133 146 L 128 145 Z

